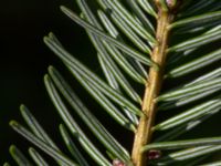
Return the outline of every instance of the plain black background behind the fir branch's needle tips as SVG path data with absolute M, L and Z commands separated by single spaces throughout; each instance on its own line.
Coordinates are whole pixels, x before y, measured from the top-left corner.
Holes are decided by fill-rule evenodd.
M 10 120 L 23 123 L 19 113 L 21 103 L 27 104 L 52 137 L 57 132 L 60 118 L 44 89 L 43 75 L 50 64 L 64 74 L 65 70 L 44 45 L 44 35 L 53 31 L 75 56 L 98 70 L 91 55 L 94 50 L 84 30 L 60 11 L 60 4 L 77 10 L 70 0 L 0 1 L 0 165 L 11 160 L 8 152 L 11 144 L 27 151 L 27 142 L 8 125 Z M 220 115 L 198 129 L 194 134 L 199 136 L 221 135 Z

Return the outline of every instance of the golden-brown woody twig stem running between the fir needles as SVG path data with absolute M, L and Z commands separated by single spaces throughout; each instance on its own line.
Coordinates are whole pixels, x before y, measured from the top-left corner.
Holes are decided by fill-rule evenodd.
M 140 149 L 144 145 L 150 143 L 151 139 L 151 127 L 154 125 L 157 111 L 157 103 L 155 102 L 155 98 L 158 96 L 161 89 L 165 60 L 167 54 L 169 37 L 168 25 L 173 19 L 173 14 L 169 11 L 165 11 L 160 7 L 158 7 L 158 9 L 156 32 L 156 39 L 158 43 L 152 50 L 151 60 L 159 65 L 159 70 L 157 71 L 152 68 L 149 69 L 148 83 L 145 90 L 141 106 L 144 116 L 140 117 L 131 153 L 131 159 L 135 166 L 147 166 L 148 163 L 146 154 L 141 153 Z

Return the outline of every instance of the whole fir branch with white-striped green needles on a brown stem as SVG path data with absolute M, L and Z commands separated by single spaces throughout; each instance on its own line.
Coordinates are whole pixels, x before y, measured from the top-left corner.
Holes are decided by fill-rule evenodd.
M 59 165 L 88 166 L 91 163 L 87 162 L 87 157 L 90 157 L 101 166 L 147 166 L 173 163 L 186 166 L 199 164 L 211 153 L 220 151 L 221 137 L 172 141 L 221 110 L 221 68 L 215 65 L 215 69 L 211 68 L 208 73 L 200 73 L 204 66 L 208 68 L 221 60 L 219 46 L 209 50 L 202 48 L 220 40 L 220 2 L 215 0 L 201 0 L 196 4 L 191 0 L 126 0 L 125 2 L 96 0 L 93 2 L 98 4 L 95 6 L 98 8 L 96 12 L 98 17 L 90 9 L 86 0 L 76 0 L 81 9 L 80 14 L 65 7 L 61 7 L 61 10 L 86 30 L 97 51 L 96 56 L 104 79 L 66 51 L 53 33 L 45 37 L 44 42 L 107 113 L 107 116 L 124 129 L 134 132 L 131 156 L 53 66 L 49 68 L 44 83 L 63 120 L 60 134 L 71 157 L 53 143 L 24 105 L 21 105 L 20 110 L 30 131 L 15 121 L 10 122 L 11 127 L 54 158 Z M 146 17 L 144 12 L 148 15 Z M 152 21 L 155 19 L 156 30 Z M 183 37 L 179 40 L 175 39 L 180 38 L 181 34 L 193 35 L 188 35 L 187 39 Z M 197 56 L 191 58 L 194 53 L 198 53 Z M 168 61 L 167 56 L 169 56 Z M 145 71 L 146 65 L 149 68 L 148 72 Z M 189 77 L 188 74 L 192 73 L 197 73 L 197 77 Z M 139 85 L 146 85 L 143 101 L 127 76 Z M 181 84 L 172 86 L 171 90 L 166 89 L 161 93 L 164 80 L 176 79 L 180 79 Z M 182 82 L 186 79 L 187 82 Z M 166 110 L 180 107 L 181 112 L 172 113 L 155 125 L 157 111 L 164 114 Z M 69 108 L 73 108 L 78 118 L 72 116 Z M 93 137 L 84 131 L 78 120 Z M 155 132 L 167 129 L 170 131 L 159 134 L 152 141 Z M 75 145 L 74 139 L 80 147 Z M 94 144 L 94 139 L 98 145 Z M 99 149 L 99 146 L 106 151 L 106 154 Z M 160 152 L 178 148 L 182 149 L 166 154 Z M 82 149 L 87 156 L 84 156 Z M 14 145 L 10 147 L 10 153 L 19 165 L 32 165 L 28 160 L 29 157 L 25 157 Z M 34 148 L 30 147 L 29 154 L 36 164 L 49 165 Z

